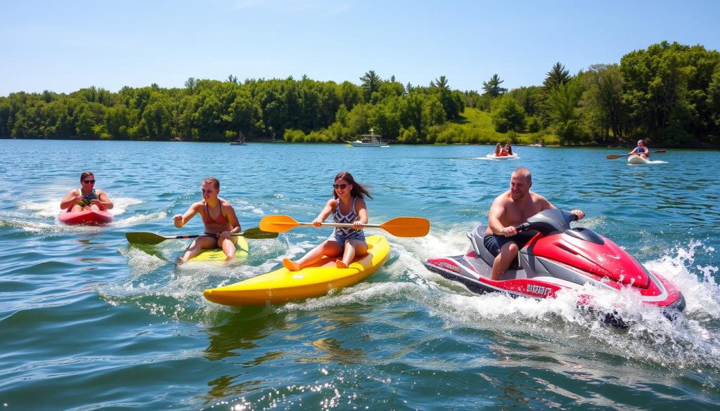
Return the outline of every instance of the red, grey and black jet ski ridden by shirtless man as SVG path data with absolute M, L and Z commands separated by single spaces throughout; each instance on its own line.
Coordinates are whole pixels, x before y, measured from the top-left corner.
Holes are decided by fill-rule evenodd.
M 534 237 L 518 253 L 498 281 L 490 279 L 495 257 L 485 248 L 487 225 L 467 233 L 470 248 L 463 256 L 428 258 L 425 266 L 459 281 L 472 292 L 506 292 L 515 297 L 555 297 L 562 289 L 580 289 L 592 284 L 620 292 L 632 289 L 646 304 L 661 307 L 674 319 L 685 309 L 685 298 L 670 281 L 649 271 L 632 256 L 588 228 L 570 228 L 577 216 L 561 209 L 546 209 L 516 227 L 518 232 L 535 230 Z M 578 295 L 578 304 L 592 304 L 592 297 Z M 610 322 L 618 319 L 608 318 Z M 623 325 L 621 320 L 616 325 Z

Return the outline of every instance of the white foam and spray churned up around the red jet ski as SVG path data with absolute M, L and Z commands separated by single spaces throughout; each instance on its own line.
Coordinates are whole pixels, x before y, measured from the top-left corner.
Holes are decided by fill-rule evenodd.
M 599 223 L 583 222 L 585 226 L 588 222 L 590 226 Z M 462 253 L 467 247 L 464 230 L 466 227 L 450 227 L 438 235 L 428 235 L 424 247 L 415 250 L 414 254 L 426 258 L 429 254 L 452 256 Z M 469 326 L 510 335 L 531 333 L 536 338 L 556 341 L 580 333 L 590 338 L 584 343 L 587 349 L 681 369 L 709 368 L 716 374 L 720 371 L 720 333 L 716 331 L 720 322 L 720 286 L 715 277 L 718 267 L 693 267 L 697 253 L 712 252 L 714 249 L 697 241 L 688 247 L 667 250 L 657 260 L 642 261 L 683 293 L 687 307 L 675 321 L 668 320 L 657 307 L 639 302 L 630 290 L 617 293 L 585 286 L 577 292 L 561 292 L 555 299 L 542 300 L 498 293 L 476 295 L 464 286 L 459 286 L 460 291 L 451 288 L 449 284 L 454 284 L 453 281 L 429 271 L 425 271 L 426 279 L 438 284 L 441 293 L 426 291 L 425 304 L 433 315 L 444 317 L 449 328 Z M 613 330 L 603 322 L 601 315 L 589 314 L 577 307 L 579 294 L 593 296 L 595 312 L 617 312 L 629 322 L 629 328 Z

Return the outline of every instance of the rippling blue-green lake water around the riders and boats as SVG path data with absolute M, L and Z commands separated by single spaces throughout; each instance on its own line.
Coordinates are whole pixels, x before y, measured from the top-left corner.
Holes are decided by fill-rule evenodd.
M 669 150 L 629 166 L 624 150 L 0 140 L 0 405 L 3 410 L 707 409 L 720 402 L 717 151 Z M 687 299 L 675 322 L 633 307 L 627 330 L 546 301 L 477 296 L 427 271 L 462 253 L 510 172 L 578 223 L 665 274 Z M 102 228 L 58 224 L 84 169 L 114 200 Z M 202 290 L 300 256 L 329 235 L 298 227 L 251 240 L 245 264 L 176 268 L 163 235 L 216 176 L 243 227 L 266 214 L 310 221 L 339 171 L 368 183 L 371 222 L 426 217 L 426 238 L 394 238 L 390 259 L 318 299 L 232 308 Z

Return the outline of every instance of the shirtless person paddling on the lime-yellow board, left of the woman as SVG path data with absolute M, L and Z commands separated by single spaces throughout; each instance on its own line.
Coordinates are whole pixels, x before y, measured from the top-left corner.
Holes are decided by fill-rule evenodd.
M 205 248 L 222 248 L 227 256 L 225 261 L 230 261 L 235 257 L 235 244 L 238 243 L 238 238 L 233 237 L 233 234 L 240 232 L 240 222 L 235 215 L 235 209 L 230 202 L 217 197 L 220 193 L 220 181 L 215 177 L 202 181 L 201 190 L 202 201 L 192 204 L 185 214 L 173 217 L 175 227 L 178 228 L 186 225 L 195 214 L 200 214 L 205 225 L 203 234 L 193 240 L 178 262 L 187 262 Z

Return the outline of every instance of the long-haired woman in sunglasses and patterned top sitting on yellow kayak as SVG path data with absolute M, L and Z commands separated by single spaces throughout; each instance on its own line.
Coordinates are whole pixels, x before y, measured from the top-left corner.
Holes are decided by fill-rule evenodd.
M 323 256 L 328 256 L 337 258 L 335 265 L 338 268 L 346 268 L 355 256 L 363 256 L 367 253 L 367 243 L 361 228 L 363 224 L 367 224 L 365 196 L 372 199 L 365 186 L 355 181 L 350 173 L 339 173 L 335 176 L 333 198 L 325 203 L 325 208 L 315 220 L 312 220 L 312 225 L 320 227 L 332 214 L 333 221 L 351 223 L 354 227 L 336 227 L 330 238 L 310 250 L 305 256 L 297 261 L 284 258 L 282 265 L 289 271 L 298 271 L 320 261 Z

